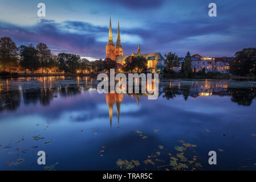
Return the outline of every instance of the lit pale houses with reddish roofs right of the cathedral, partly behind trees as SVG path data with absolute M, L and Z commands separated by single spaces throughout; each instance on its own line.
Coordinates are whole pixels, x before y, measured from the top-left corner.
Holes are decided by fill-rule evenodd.
M 232 57 L 206 57 L 201 55 L 191 56 L 191 67 L 193 72 L 200 72 L 205 69 L 205 72 L 220 72 L 220 73 L 229 73 L 229 62 L 233 60 Z M 185 58 L 181 58 L 178 62 L 178 67 L 173 67 L 174 72 L 181 72 L 182 64 L 184 63 Z M 161 73 L 165 68 L 164 60 L 159 60 L 156 72 Z

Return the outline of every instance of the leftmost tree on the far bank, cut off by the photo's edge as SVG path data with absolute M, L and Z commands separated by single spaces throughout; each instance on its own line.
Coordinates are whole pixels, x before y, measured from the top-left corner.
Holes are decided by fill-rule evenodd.
M 0 39 L 0 63 L 3 66 L 3 72 L 6 67 L 9 67 L 9 72 L 11 72 L 11 66 L 18 63 L 18 48 L 11 38 Z

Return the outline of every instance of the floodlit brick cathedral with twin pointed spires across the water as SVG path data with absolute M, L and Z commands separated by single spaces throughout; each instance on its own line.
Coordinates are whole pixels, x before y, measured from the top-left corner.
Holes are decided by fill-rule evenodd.
M 159 60 L 164 60 L 164 57 L 161 55 L 160 52 L 156 53 L 144 53 L 141 54 L 140 51 L 140 44 L 137 49 L 137 53 L 132 53 L 132 55 L 128 56 L 143 56 L 145 59 L 148 60 L 148 72 L 155 72 L 156 65 L 158 64 Z M 113 35 L 112 35 L 112 27 L 111 27 L 111 18 L 109 20 L 109 31 L 108 31 L 108 44 L 106 46 L 106 57 L 115 60 L 116 63 L 120 63 L 123 65 L 125 63 L 125 59 L 128 56 L 124 56 L 124 50 L 121 46 L 121 38 L 120 38 L 120 28 L 119 28 L 119 22 L 118 22 L 118 28 L 117 28 L 117 40 L 116 40 L 116 46 L 113 44 Z

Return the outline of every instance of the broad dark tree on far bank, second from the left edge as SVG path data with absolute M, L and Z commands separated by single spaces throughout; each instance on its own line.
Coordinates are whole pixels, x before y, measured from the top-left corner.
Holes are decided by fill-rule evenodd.
M 21 60 L 19 64 L 21 67 L 25 68 L 25 72 L 27 73 L 27 69 L 30 69 L 31 73 L 33 70 L 40 68 L 40 62 L 38 60 L 38 51 L 30 44 L 29 46 L 20 46 L 19 53 L 21 56 Z

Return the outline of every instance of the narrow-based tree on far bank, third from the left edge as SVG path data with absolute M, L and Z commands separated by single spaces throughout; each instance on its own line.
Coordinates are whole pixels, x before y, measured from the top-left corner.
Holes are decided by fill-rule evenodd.
M 41 67 L 42 67 L 42 73 L 43 73 L 44 67 L 46 67 L 48 61 L 50 61 L 51 50 L 48 49 L 46 44 L 43 44 L 43 43 L 39 43 L 36 46 L 36 49 L 38 50 L 38 58 L 39 58 L 39 61 L 40 61 Z

